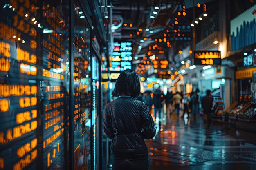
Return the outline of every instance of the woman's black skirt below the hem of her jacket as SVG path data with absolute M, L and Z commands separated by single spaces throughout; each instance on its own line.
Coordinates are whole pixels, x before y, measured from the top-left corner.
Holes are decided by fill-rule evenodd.
M 112 155 L 112 170 L 149 170 L 148 155 L 125 158 Z

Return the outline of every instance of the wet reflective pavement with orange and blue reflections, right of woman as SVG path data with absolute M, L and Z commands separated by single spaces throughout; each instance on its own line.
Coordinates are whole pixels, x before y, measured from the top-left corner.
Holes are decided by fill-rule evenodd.
M 146 141 L 150 170 L 256 170 L 255 133 L 213 122 L 206 134 L 202 117 L 191 122 L 174 114 L 157 127 Z

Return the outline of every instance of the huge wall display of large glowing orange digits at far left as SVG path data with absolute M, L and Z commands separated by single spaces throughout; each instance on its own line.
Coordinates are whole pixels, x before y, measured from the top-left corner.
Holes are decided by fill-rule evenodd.
M 0 2 L 0 169 L 63 169 L 68 5 L 8 2 Z

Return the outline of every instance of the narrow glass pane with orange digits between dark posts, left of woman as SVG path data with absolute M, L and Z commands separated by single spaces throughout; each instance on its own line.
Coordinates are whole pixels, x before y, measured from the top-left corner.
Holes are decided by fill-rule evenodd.
M 91 29 L 78 1 L 74 1 L 74 169 L 90 169 Z

